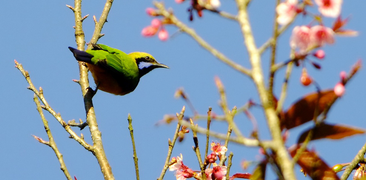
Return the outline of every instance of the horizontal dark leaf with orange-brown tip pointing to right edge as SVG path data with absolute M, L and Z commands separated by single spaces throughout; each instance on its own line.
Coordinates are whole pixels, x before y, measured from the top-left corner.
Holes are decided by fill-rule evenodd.
M 310 129 L 300 135 L 298 143 L 302 143 L 305 141 L 305 138 L 309 133 L 309 131 Z M 315 127 L 311 140 L 323 139 L 323 138 L 341 139 L 351 135 L 363 134 L 363 133 L 365 133 L 365 130 L 359 128 L 322 123 L 318 127 Z

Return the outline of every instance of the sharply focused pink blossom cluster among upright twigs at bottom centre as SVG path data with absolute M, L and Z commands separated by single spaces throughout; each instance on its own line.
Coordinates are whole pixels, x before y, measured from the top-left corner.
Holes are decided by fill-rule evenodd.
M 205 158 L 205 164 L 213 164 L 212 168 L 205 169 L 205 175 L 207 180 L 224 180 L 227 167 L 219 166 L 215 163 L 217 156 L 221 156 L 227 151 L 227 148 L 220 143 L 211 143 L 211 150 L 213 151 L 210 155 Z M 196 179 L 201 179 L 202 173 L 200 171 L 193 171 L 188 168 L 188 166 L 183 164 L 183 156 L 180 154 L 178 157 L 173 157 L 171 164 L 169 166 L 169 171 L 175 171 L 175 176 L 177 180 L 186 180 L 187 178 L 194 177 Z

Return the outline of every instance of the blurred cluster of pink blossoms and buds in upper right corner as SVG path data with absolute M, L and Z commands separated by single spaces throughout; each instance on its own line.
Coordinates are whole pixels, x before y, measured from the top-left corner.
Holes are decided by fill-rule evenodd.
M 321 14 L 314 16 L 314 21 L 318 22 L 319 25 L 296 26 L 292 30 L 290 46 L 292 49 L 298 49 L 294 58 L 296 65 L 299 65 L 299 60 L 307 60 L 307 55 L 309 55 L 314 49 L 322 47 L 325 44 L 333 44 L 335 42 L 336 34 L 347 36 L 357 35 L 356 31 L 344 30 L 342 28 L 348 21 L 348 19 L 342 20 L 340 17 L 342 0 L 303 0 L 302 4 L 300 4 L 298 0 L 285 0 L 276 7 L 278 15 L 276 19 L 277 23 L 286 25 L 292 22 L 295 16 L 299 13 L 307 15 L 308 13 L 305 8 L 307 6 L 312 6 L 312 1 L 314 1 L 318 6 L 318 11 Z M 338 18 L 334 21 L 333 27 L 329 28 L 323 25 L 322 16 Z M 312 55 L 319 60 L 322 60 L 325 57 L 325 52 L 323 50 L 317 50 L 312 53 Z M 311 60 L 309 61 L 315 68 L 321 68 L 317 63 Z M 334 92 L 337 96 L 342 96 L 345 91 L 344 74 L 344 72 L 341 73 L 341 81 L 337 83 L 334 88 Z M 313 82 L 313 78 L 309 76 L 305 67 L 303 68 L 300 82 L 305 86 L 310 85 Z

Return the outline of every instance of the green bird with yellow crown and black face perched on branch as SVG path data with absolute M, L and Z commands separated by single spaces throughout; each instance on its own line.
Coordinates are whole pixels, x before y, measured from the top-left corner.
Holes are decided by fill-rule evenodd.
M 76 60 L 85 62 L 93 75 L 97 89 L 115 95 L 125 95 L 135 90 L 140 78 L 155 68 L 169 68 L 143 52 L 126 54 L 102 44 L 81 51 L 68 47 Z

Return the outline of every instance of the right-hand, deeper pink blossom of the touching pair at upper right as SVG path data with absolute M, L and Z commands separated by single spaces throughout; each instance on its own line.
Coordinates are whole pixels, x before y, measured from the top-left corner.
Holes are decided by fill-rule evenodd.
M 334 43 L 334 31 L 325 26 L 317 25 L 310 28 L 310 43 L 315 47 L 321 47 L 324 43 Z

